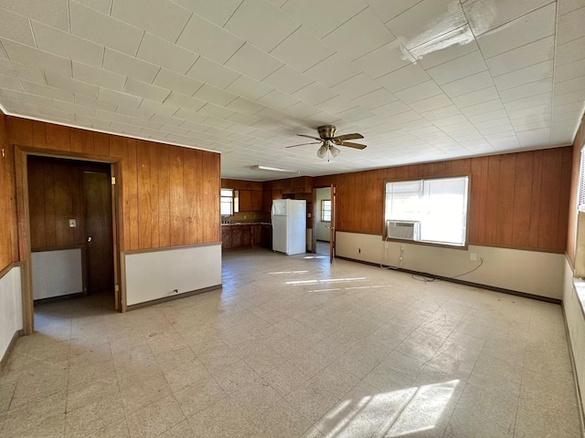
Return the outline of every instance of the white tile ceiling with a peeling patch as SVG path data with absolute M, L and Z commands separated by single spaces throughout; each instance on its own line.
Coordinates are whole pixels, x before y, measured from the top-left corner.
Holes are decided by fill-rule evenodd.
M 554 147 L 583 115 L 584 21 L 585 0 L 0 0 L 0 105 L 250 180 Z M 367 149 L 285 149 L 324 124 Z

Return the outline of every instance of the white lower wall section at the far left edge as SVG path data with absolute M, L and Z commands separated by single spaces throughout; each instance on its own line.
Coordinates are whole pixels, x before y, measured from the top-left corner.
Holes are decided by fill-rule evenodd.
M 0 360 L 16 331 L 22 328 L 20 266 L 14 266 L 0 278 Z

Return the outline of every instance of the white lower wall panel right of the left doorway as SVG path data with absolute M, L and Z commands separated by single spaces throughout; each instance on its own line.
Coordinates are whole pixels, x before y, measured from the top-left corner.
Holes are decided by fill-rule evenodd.
M 221 244 L 122 256 L 128 306 L 221 285 Z

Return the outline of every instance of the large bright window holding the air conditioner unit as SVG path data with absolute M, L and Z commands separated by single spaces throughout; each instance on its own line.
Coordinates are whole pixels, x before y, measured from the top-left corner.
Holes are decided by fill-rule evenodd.
M 386 183 L 385 235 L 466 245 L 468 190 L 468 176 Z

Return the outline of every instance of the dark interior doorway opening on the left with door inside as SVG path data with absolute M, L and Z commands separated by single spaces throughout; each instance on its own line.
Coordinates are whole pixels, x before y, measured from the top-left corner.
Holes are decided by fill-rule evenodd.
M 115 164 L 27 154 L 24 170 L 31 326 L 67 317 L 69 298 L 118 310 Z

